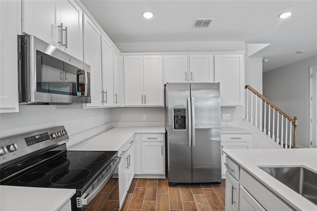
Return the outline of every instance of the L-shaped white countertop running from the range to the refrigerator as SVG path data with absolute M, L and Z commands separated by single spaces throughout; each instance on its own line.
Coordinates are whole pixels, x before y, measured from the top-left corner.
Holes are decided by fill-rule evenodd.
M 165 133 L 164 127 L 114 127 L 67 150 L 76 151 L 118 151 L 120 147 L 135 133 Z

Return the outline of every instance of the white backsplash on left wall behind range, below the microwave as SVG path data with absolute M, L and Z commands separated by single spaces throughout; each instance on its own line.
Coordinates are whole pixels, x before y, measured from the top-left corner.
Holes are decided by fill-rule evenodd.
M 112 108 L 83 109 L 81 105 L 59 107 L 62 108 L 20 105 L 19 112 L 1 113 L 0 138 L 58 125 L 64 125 L 68 135 L 72 136 L 112 122 Z

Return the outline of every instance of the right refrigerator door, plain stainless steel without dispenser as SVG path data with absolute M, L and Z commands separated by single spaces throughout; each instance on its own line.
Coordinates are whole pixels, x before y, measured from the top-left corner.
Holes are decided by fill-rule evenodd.
M 192 83 L 193 183 L 220 182 L 219 83 Z

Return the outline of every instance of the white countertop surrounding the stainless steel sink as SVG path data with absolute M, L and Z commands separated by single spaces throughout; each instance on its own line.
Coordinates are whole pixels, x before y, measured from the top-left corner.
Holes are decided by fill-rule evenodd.
M 317 206 L 279 182 L 258 166 L 305 166 L 317 172 L 317 149 L 223 149 L 227 156 L 289 205 L 303 211 Z

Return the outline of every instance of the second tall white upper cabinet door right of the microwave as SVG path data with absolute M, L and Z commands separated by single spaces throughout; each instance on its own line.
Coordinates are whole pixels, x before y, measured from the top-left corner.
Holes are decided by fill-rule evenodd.
M 103 73 L 103 106 L 113 106 L 113 58 L 112 46 L 104 35 L 101 40 Z

